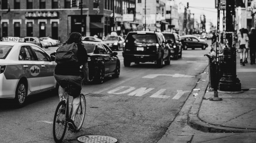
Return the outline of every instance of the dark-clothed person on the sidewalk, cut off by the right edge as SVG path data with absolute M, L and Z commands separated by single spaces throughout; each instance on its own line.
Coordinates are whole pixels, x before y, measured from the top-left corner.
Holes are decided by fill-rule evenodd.
M 249 46 L 250 46 L 250 61 L 251 65 L 255 64 L 255 53 L 256 53 L 256 30 L 255 28 L 251 28 L 251 32 L 249 35 Z

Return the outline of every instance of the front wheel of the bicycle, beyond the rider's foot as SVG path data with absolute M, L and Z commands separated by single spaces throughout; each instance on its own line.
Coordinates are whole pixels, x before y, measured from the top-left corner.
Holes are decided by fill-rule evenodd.
M 80 105 L 79 108 L 76 112 L 76 117 L 75 117 L 75 125 L 77 127 L 77 131 L 79 131 L 82 127 L 84 117 L 86 116 L 86 98 L 84 97 L 83 94 L 80 94 Z

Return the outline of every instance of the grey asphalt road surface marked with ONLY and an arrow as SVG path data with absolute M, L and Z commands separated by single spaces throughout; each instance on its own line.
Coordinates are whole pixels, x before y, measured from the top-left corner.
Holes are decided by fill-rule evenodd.
M 208 41 L 210 45 L 210 41 Z M 48 53 L 56 47 L 46 49 Z M 118 142 L 157 142 L 208 65 L 206 50 L 183 50 L 182 59 L 157 68 L 154 63 L 123 66 L 119 78 L 106 77 L 103 84 L 83 85 L 87 113 L 82 129 L 67 131 L 64 142 L 81 135 L 105 135 Z M 52 122 L 58 95 L 46 92 L 28 98 L 23 108 L 0 100 L 0 142 L 54 142 Z

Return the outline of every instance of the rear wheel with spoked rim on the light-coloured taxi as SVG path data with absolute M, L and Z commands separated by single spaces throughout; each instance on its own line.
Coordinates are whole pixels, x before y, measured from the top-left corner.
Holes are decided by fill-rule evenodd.
M 27 85 L 24 81 L 19 82 L 15 91 L 15 102 L 17 107 L 23 107 L 27 98 Z

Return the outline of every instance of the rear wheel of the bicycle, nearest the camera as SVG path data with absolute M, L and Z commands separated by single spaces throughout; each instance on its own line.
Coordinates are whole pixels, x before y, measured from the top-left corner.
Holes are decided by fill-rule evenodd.
M 67 126 L 68 122 L 66 121 L 66 103 L 61 101 L 56 108 L 53 119 L 53 138 L 55 142 L 62 142 L 67 130 Z

